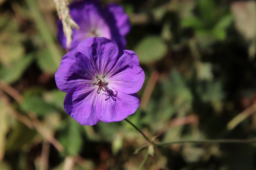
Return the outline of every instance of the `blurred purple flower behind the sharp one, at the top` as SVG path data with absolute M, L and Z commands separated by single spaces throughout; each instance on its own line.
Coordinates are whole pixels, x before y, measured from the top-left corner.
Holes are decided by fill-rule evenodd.
M 74 1 L 70 4 L 70 15 L 79 25 L 73 29 L 70 50 L 88 37 L 106 37 L 114 41 L 120 49 L 126 46 L 126 34 L 130 31 L 130 20 L 122 6 L 110 3 L 101 8 L 98 0 Z M 66 47 L 66 36 L 62 23 L 58 20 L 58 39 Z

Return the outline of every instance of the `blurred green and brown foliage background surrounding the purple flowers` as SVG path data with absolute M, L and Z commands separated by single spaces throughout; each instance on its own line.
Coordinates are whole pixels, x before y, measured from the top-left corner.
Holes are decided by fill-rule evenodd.
M 256 138 L 255 1 L 113 1 L 130 16 L 126 49 L 146 74 L 132 123 L 160 142 Z M 134 151 L 146 141 L 130 124 L 82 126 L 65 113 L 56 20 L 53 0 L 0 0 L 0 169 L 138 169 L 147 150 Z M 154 154 L 142 169 L 256 169 L 253 144 Z

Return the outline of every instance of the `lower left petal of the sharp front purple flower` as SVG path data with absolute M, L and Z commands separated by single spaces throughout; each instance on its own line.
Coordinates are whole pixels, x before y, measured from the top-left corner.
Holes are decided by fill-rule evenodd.
M 72 88 L 64 100 L 65 111 L 82 125 L 95 125 L 99 121 L 95 102 L 98 95 L 92 87 Z

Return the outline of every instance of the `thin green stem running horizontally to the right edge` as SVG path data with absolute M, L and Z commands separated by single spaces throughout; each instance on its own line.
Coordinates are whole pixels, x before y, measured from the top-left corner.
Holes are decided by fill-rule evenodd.
M 160 145 L 171 145 L 176 143 L 256 143 L 256 140 L 245 140 L 245 139 L 206 139 L 206 140 L 185 140 L 185 141 L 172 141 L 172 142 L 160 142 L 154 143 L 156 146 Z

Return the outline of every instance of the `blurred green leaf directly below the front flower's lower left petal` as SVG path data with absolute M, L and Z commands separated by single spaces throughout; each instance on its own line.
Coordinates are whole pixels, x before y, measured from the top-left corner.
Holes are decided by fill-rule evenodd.
M 71 117 L 68 118 L 68 123 L 66 123 L 66 127 L 62 131 L 60 131 L 60 134 L 58 136 L 60 143 L 65 148 L 63 156 L 75 156 L 80 152 L 83 144 L 83 130 L 83 126 L 80 125 L 76 120 Z

